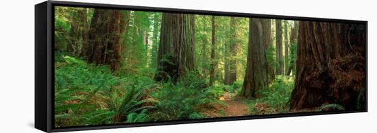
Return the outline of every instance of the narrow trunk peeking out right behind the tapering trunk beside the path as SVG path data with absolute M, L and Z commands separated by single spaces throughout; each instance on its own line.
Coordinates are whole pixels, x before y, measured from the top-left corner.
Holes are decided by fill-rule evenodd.
M 271 31 L 271 19 L 262 19 L 263 22 L 263 44 L 265 50 L 272 45 L 272 31 Z M 267 62 L 268 80 L 272 82 L 275 79 L 275 71 L 273 62 Z

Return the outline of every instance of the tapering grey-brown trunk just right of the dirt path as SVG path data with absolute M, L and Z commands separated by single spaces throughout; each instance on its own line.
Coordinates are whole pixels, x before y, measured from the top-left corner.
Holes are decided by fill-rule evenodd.
M 256 90 L 267 87 L 267 62 L 263 44 L 263 21 L 250 19 L 249 25 L 247 66 L 241 96 L 254 98 Z

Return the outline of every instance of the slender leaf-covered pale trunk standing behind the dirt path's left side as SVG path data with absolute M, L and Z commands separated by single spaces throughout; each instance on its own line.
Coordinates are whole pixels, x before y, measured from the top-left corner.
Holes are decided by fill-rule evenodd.
M 232 17 L 230 19 L 230 46 L 229 46 L 229 79 L 228 84 L 233 84 L 237 80 L 238 60 L 236 59 L 239 52 L 239 38 L 241 34 L 239 32 L 239 20 L 240 18 Z

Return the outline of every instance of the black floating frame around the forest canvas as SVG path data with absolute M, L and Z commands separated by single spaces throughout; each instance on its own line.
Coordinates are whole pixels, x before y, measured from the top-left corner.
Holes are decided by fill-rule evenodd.
M 206 14 L 217 16 L 242 16 L 242 17 L 255 17 L 263 19 L 286 19 L 297 21 L 320 21 L 320 22 L 338 22 L 338 23 L 358 23 L 366 27 L 365 30 L 365 95 L 366 107 L 365 110 L 345 110 L 336 112 L 297 112 L 289 114 L 265 114 L 258 116 L 243 116 L 243 117 L 219 117 L 210 119 L 188 119 L 179 121 L 154 121 L 145 123 L 121 123 L 111 125 L 87 125 L 75 126 L 67 128 L 54 128 L 54 7 L 55 6 L 70 6 L 82 8 L 106 8 L 114 10 L 136 10 L 136 11 L 153 11 L 153 12 L 175 12 L 186 14 Z M 236 121 L 247 119 L 266 119 L 277 117 L 300 117 L 321 114 L 341 114 L 351 112 L 367 112 L 367 21 L 356 20 L 343 20 L 343 19 L 323 19 L 311 18 L 301 16 L 279 16 L 269 14 L 249 14 L 239 12 L 218 12 L 207 10 L 186 10 L 175 8 L 153 8 L 133 5 L 111 5 L 101 3 L 78 3 L 70 1 L 45 1 L 35 5 L 35 128 L 44 132 L 63 132 L 63 131 L 76 131 L 76 130 L 99 130 L 109 128 L 129 128 L 151 125 L 171 125 L 183 123 L 204 123 L 215 121 Z

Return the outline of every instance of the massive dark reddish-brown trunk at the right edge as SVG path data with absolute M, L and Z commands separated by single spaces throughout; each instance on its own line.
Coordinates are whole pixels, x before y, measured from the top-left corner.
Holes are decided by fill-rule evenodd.
M 291 110 L 365 108 L 365 25 L 300 21 Z

